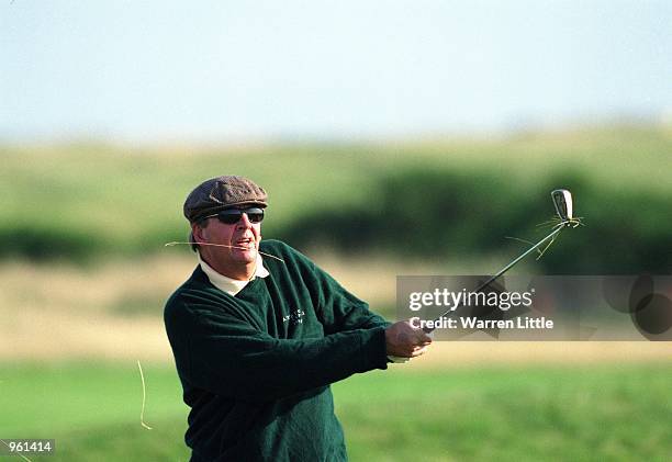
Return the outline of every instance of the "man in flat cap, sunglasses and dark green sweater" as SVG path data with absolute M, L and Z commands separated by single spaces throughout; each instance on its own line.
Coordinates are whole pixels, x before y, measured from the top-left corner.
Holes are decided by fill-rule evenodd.
M 345 461 L 329 384 L 432 341 L 390 325 L 299 251 L 261 243 L 267 194 L 213 178 L 184 202 L 199 264 L 165 323 L 192 461 Z

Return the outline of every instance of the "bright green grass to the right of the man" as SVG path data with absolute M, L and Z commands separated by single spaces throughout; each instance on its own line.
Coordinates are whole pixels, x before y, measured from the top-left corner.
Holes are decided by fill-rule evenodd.
M 670 368 L 385 379 L 371 374 L 357 388 L 336 387 L 358 396 L 337 399 L 352 460 L 664 460 L 672 450 Z

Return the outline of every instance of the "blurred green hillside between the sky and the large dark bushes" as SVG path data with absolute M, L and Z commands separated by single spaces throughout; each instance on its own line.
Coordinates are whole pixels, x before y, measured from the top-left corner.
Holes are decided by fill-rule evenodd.
M 100 252 L 161 251 L 164 243 L 186 237 L 180 206 L 187 193 L 221 173 L 248 176 L 268 189 L 267 236 L 324 210 L 351 217 L 350 209 L 379 202 L 381 180 L 410 168 L 473 183 L 493 173 L 526 193 L 546 188 L 549 178 L 578 176 L 626 196 L 669 196 L 671 132 L 612 126 L 506 138 L 225 148 L 0 146 L 0 255 L 86 261 Z M 607 202 L 609 209 L 618 203 Z

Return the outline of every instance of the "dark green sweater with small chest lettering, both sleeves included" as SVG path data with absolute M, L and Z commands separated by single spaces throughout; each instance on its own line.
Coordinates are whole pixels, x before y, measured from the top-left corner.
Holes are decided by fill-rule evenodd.
M 166 304 L 192 461 L 347 460 L 329 384 L 387 368 L 388 324 L 288 245 L 260 249 L 284 261 L 235 296 L 197 267 Z

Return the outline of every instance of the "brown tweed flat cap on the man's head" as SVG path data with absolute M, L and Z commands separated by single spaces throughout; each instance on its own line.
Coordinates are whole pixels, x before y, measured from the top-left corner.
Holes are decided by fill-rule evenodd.
M 184 216 L 190 223 L 237 205 L 266 207 L 268 194 L 254 181 L 226 174 L 199 184 L 184 201 Z

